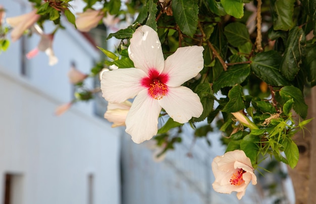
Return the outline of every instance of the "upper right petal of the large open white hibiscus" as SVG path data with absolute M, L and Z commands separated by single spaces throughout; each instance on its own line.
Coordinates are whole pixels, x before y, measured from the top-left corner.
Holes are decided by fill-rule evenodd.
M 168 86 L 177 87 L 195 77 L 204 66 L 201 46 L 179 47 L 165 61 L 163 73 L 168 73 Z

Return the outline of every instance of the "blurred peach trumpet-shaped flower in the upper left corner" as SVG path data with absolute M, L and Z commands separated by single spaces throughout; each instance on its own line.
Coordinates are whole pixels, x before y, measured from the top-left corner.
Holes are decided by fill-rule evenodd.
M 7 23 L 14 29 L 11 32 L 12 41 L 18 40 L 25 30 L 30 28 L 40 17 L 36 14 L 37 10 L 33 10 L 28 14 L 17 17 L 7 18 Z

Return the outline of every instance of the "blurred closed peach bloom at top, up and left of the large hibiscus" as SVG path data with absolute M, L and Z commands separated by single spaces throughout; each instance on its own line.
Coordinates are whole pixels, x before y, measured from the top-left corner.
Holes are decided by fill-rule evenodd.
M 95 28 L 99 24 L 100 20 L 104 16 L 104 12 L 101 10 L 88 9 L 84 13 L 79 13 L 77 15 L 77 29 L 82 32 L 89 32 L 92 28 Z

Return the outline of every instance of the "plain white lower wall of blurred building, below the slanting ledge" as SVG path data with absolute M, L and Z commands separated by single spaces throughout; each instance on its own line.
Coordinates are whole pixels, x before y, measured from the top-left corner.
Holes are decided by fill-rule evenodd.
M 76 110 L 53 115 L 58 101 L 3 70 L 0 93 L 0 173 L 23 175 L 24 204 L 85 204 L 90 173 L 95 204 L 120 202 L 119 129 Z

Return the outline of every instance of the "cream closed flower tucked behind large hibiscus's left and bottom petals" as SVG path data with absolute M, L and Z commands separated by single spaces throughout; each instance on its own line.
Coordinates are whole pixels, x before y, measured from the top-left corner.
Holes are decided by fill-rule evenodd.
M 104 118 L 113 122 L 112 127 L 124 126 L 127 113 L 132 103 L 124 101 L 123 103 L 109 103 Z

